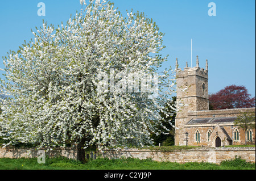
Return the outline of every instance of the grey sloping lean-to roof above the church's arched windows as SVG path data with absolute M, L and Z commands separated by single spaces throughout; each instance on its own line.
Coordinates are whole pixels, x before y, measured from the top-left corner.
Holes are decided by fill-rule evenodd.
M 199 118 L 188 121 L 187 124 L 209 124 L 209 123 L 232 123 L 237 117 L 211 117 L 211 118 Z

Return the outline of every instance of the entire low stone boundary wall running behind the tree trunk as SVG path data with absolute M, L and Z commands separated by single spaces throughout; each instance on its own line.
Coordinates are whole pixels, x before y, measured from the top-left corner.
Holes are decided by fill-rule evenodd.
M 255 163 L 255 147 L 248 148 L 196 148 L 189 150 L 154 151 L 147 149 L 123 149 L 99 151 L 101 157 L 116 158 L 152 158 L 154 161 L 185 162 L 209 162 L 220 163 L 226 159 L 234 159 L 240 156 L 248 162 Z M 69 159 L 79 159 L 77 148 L 56 148 L 46 152 L 49 157 L 63 156 Z M 34 158 L 38 157 L 37 149 L 0 148 L 0 158 Z

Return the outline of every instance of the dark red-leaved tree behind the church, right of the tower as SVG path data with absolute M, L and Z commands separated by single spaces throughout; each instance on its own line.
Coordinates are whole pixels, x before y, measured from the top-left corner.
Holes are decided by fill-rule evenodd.
M 209 95 L 210 110 L 255 107 L 255 97 L 251 98 L 245 86 L 226 86 Z

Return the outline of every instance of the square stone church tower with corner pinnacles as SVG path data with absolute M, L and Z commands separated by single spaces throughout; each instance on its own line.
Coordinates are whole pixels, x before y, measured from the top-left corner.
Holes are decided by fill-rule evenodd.
M 176 86 L 177 86 L 177 115 L 175 118 L 175 145 L 185 145 L 184 125 L 188 123 L 189 111 L 209 110 L 208 96 L 208 60 L 206 68 L 200 69 L 199 58 L 196 58 L 196 67 L 184 70 L 179 69 L 176 58 Z

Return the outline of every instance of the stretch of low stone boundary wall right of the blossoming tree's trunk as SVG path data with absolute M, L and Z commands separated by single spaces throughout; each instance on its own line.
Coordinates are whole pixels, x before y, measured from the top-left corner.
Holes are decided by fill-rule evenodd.
M 185 162 L 209 162 L 221 163 L 227 159 L 234 159 L 240 156 L 248 162 L 255 163 L 255 147 L 248 148 L 196 148 L 189 150 L 175 151 L 152 151 L 140 149 L 104 150 L 102 157 L 115 158 L 152 158 L 154 161 L 170 161 L 177 163 Z

